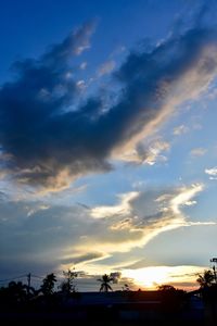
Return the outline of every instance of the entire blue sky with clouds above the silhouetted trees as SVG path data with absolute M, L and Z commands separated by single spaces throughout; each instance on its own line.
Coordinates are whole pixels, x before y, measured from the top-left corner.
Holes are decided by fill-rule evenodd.
M 0 1 L 0 281 L 196 287 L 217 255 L 217 1 Z

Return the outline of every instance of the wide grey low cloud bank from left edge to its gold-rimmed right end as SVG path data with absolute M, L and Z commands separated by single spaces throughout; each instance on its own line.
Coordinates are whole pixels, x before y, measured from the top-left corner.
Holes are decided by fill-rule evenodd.
M 78 266 L 88 273 L 129 264 L 129 253 L 154 237 L 179 227 L 201 227 L 214 222 L 190 221 L 183 212 L 203 190 L 202 185 L 146 189 L 118 197 L 111 206 L 63 206 L 42 201 L 0 200 L 0 274 L 44 274 Z M 105 267 L 105 265 L 103 265 Z

